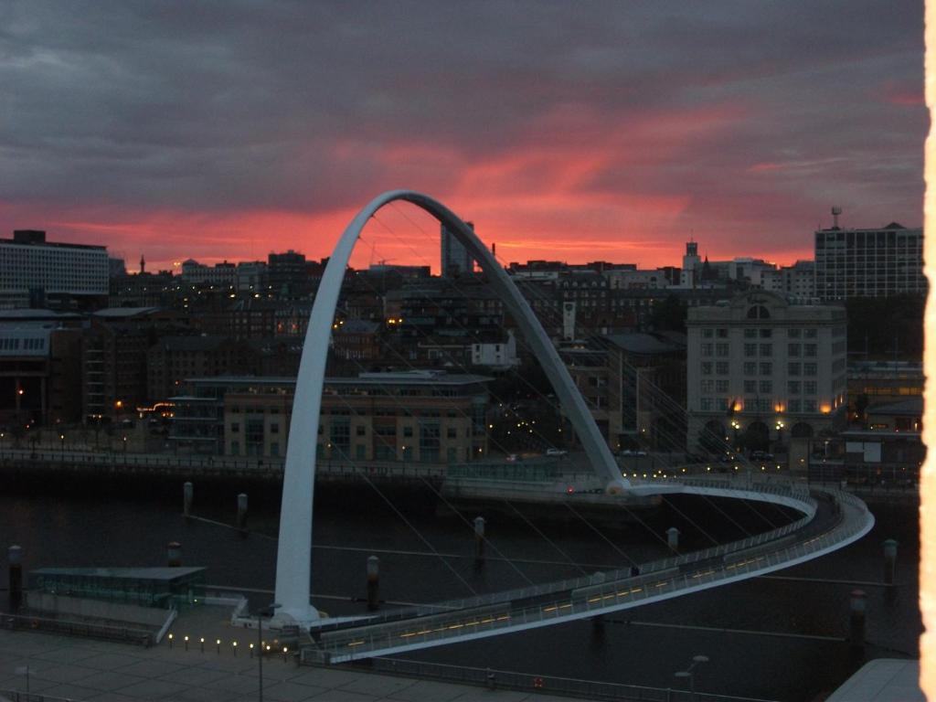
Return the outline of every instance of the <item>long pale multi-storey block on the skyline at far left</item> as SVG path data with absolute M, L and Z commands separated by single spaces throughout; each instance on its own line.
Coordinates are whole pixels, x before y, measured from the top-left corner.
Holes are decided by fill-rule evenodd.
M 46 233 L 17 229 L 0 239 L 0 306 L 106 300 L 110 262 L 104 246 L 46 241 Z

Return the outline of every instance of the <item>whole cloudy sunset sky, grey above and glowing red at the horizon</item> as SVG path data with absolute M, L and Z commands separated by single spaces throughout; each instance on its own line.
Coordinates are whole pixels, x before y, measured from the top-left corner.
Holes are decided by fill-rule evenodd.
M 922 222 L 923 3 L 0 0 L 0 236 L 317 258 L 378 193 L 505 261 L 812 257 Z M 378 214 L 354 262 L 437 264 Z

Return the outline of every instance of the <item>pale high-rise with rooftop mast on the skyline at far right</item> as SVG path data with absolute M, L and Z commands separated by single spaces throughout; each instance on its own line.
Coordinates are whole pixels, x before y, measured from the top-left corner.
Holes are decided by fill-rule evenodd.
M 922 228 L 892 222 L 880 229 L 819 229 L 815 254 L 815 294 L 822 300 L 927 291 Z

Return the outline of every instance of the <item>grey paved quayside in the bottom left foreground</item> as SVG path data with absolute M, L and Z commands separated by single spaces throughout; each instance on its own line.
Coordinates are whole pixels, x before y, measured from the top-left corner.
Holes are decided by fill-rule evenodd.
M 207 638 L 207 637 L 206 637 Z M 195 639 L 197 641 L 197 639 Z M 244 643 L 239 643 L 243 646 Z M 153 649 L 34 632 L 0 631 L 0 691 L 24 691 L 16 670 L 29 666 L 33 693 L 95 702 L 227 702 L 256 700 L 257 665 L 247 651 L 235 657 L 206 640 Z M 282 656 L 263 665 L 264 699 L 270 702 L 558 702 L 547 695 L 487 690 L 410 680 L 343 668 L 296 665 Z M 3 697 L 0 695 L 0 700 Z M 567 699 L 567 698 L 563 698 Z

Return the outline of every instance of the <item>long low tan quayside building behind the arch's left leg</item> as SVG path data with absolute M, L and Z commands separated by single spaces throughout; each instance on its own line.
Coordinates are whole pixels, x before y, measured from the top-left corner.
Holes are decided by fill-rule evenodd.
M 489 381 L 444 371 L 327 378 L 317 458 L 429 463 L 485 458 Z M 170 438 L 179 449 L 285 457 L 294 377 L 218 376 L 186 380 L 183 386 L 184 394 L 171 398 Z

